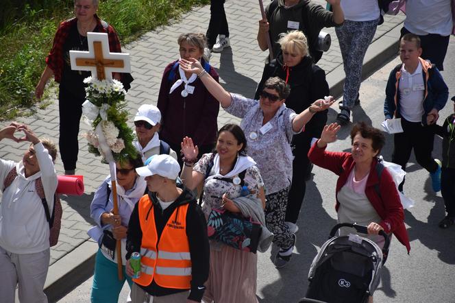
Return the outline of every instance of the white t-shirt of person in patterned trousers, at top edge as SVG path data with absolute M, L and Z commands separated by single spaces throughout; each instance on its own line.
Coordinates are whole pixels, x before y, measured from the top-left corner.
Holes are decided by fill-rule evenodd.
M 345 20 L 373 21 L 379 18 L 378 0 L 343 0 L 340 3 Z

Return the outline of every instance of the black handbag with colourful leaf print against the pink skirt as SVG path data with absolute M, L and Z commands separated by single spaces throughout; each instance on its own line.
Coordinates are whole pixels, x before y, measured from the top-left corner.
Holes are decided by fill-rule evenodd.
M 212 208 L 207 220 L 207 231 L 208 239 L 256 254 L 262 226 L 251 217 L 245 218 L 224 208 Z

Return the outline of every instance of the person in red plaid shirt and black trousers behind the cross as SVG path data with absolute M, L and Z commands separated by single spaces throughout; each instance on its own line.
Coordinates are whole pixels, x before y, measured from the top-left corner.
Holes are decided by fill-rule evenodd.
M 42 97 L 47 81 L 54 76 L 59 85 L 60 139 L 62 162 L 67 175 L 74 175 L 79 152 L 77 134 L 85 101 L 84 79 L 89 71 L 72 71 L 69 51 L 88 51 L 88 32 L 108 33 L 109 49 L 120 53 L 120 41 L 114 28 L 97 16 L 98 0 L 75 0 L 75 18 L 60 23 L 53 38 L 52 49 L 46 58 L 46 68 L 36 85 L 35 95 Z M 114 75 L 120 80 L 120 75 Z

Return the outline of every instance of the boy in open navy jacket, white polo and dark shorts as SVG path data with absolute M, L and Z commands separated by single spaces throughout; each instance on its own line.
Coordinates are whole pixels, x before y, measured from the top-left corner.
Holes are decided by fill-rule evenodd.
M 414 149 L 417 163 L 426 169 L 435 192 L 441 190 L 441 162 L 432 157 L 434 129 L 449 89 L 434 64 L 420 58 L 420 38 L 406 34 L 400 41 L 402 64 L 393 69 L 386 86 L 385 119 L 401 118 L 403 132 L 393 137 L 392 162 L 406 169 Z M 403 183 L 399 184 L 403 191 Z

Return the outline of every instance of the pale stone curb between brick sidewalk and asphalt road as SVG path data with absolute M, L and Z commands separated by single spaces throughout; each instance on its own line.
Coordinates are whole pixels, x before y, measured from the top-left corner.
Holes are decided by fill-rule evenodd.
M 391 31 L 371 43 L 362 64 L 362 81 L 397 54 L 402 26 L 403 23 L 397 24 Z M 345 82 L 343 64 L 328 73 L 326 80 L 332 84 L 330 95 L 334 97 L 343 95 Z M 97 243 L 89 239 L 49 267 L 44 289 L 49 302 L 57 302 L 64 298 L 93 275 L 97 251 Z

